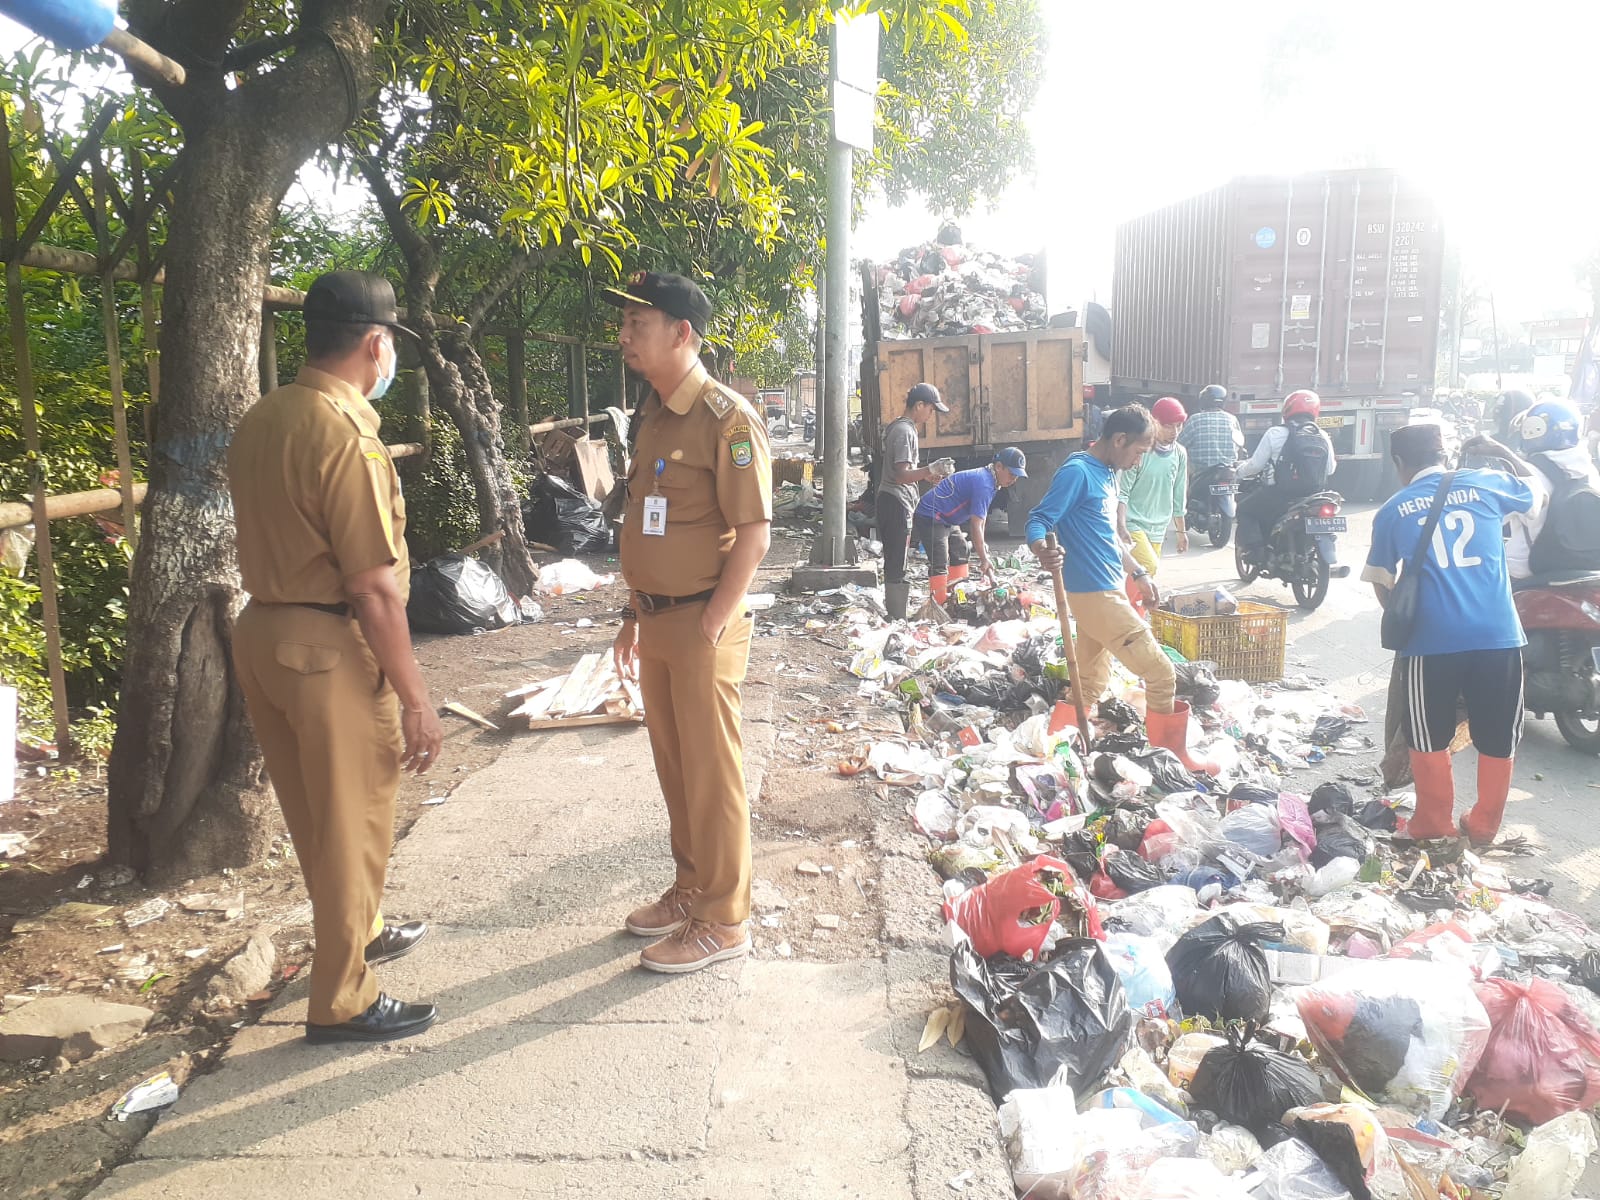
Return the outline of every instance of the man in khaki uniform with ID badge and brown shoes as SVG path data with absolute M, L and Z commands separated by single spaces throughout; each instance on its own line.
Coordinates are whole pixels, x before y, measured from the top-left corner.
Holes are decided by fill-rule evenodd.
M 766 422 L 701 366 L 710 301 L 696 283 L 642 272 L 606 299 L 622 307 L 622 362 L 653 389 L 627 477 L 621 560 L 634 595 L 616 661 L 638 677 L 677 864 L 627 930 L 661 938 L 642 966 L 682 974 L 750 950 L 744 595 L 771 539 L 773 462 Z

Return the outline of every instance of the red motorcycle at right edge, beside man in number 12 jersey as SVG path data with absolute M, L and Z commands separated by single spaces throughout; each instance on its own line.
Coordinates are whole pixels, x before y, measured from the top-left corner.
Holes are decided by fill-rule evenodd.
M 1555 717 L 1574 750 L 1600 754 L 1600 571 L 1555 571 L 1514 584 L 1523 707 Z

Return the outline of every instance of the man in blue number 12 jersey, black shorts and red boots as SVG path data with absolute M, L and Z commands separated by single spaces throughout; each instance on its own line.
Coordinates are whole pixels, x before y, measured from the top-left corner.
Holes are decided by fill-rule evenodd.
M 1362 571 L 1378 603 L 1386 606 L 1395 579 L 1418 549 L 1445 472 L 1443 430 L 1406 426 L 1394 432 L 1389 446 L 1403 485 L 1373 518 L 1373 549 Z M 1542 493 L 1518 477 L 1528 466 L 1498 442 L 1475 437 L 1461 450 L 1504 456 L 1517 474 L 1458 470 L 1442 499 L 1432 544 L 1418 565 L 1418 622 L 1400 650 L 1416 781 L 1410 832 L 1414 838 L 1456 834 L 1450 739 L 1456 731 L 1456 702 L 1464 699 L 1472 744 L 1478 749 L 1478 798 L 1461 832 L 1474 845 L 1488 845 L 1499 832 L 1510 790 L 1526 645 L 1510 598 L 1501 526 L 1534 518 Z

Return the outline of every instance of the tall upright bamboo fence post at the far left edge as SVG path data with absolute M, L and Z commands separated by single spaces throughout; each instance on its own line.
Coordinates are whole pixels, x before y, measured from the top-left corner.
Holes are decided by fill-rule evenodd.
M 16 184 L 11 178 L 11 125 L 0 104 L 0 240 L 16 242 Z M 91 256 L 93 258 L 93 256 Z M 61 611 L 56 605 L 56 560 L 50 546 L 50 518 L 45 514 L 45 462 L 38 442 L 38 397 L 34 390 L 34 362 L 27 350 L 27 314 L 22 296 L 22 264 L 14 256 L 5 264 L 5 302 L 11 320 L 11 352 L 16 355 L 16 397 L 22 410 L 22 438 L 27 445 L 27 475 L 34 493 L 32 517 L 37 530 L 38 590 L 45 616 L 45 659 L 50 669 L 50 707 L 56 718 L 56 750 L 72 746 L 67 712 L 67 674 L 61 661 Z

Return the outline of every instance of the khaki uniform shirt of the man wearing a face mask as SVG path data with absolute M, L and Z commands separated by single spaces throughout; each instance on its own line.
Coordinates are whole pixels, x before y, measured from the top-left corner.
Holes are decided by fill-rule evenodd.
M 344 581 L 392 563 L 411 590 L 400 475 L 378 413 L 346 381 L 304 368 L 238 422 L 227 482 L 245 590 L 269 605 L 336 605 Z

